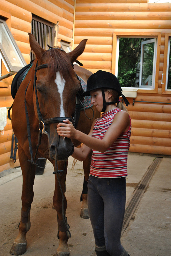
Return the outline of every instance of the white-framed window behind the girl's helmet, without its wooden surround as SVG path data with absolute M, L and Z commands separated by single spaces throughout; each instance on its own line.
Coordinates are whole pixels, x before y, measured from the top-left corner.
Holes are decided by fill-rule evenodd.
M 123 87 L 154 88 L 156 38 L 117 38 L 118 79 Z

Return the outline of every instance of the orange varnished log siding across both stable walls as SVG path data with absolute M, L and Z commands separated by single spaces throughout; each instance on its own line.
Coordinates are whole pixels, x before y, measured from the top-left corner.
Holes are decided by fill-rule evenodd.
M 171 154 L 171 93 L 164 92 L 161 77 L 166 66 L 166 33 L 171 33 L 171 4 L 147 3 L 147 0 L 1 0 L 0 15 L 4 17 L 17 45 L 30 62 L 28 32 L 31 32 L 32 13 L 54 24 L 58 23 L 55 44 L 60 40 L 72 44 L 74 23 L 74 48 L 88 38 L 84 53 L 79 57 L 83 67 L 95 73 L 101 69 L 111 72 L 114 68 L 113 33 L 161 33 L 157 91 L 140 92 L 135 99 L 128 98 L 132 119 L 130 151 L 160 155 Z M 110 2 L 110 3 L 109 3 Z M 136 20 L 136 22 L 135 22 Z M 167 36 L 168 39 L 168 36 Z M 0 107 L 10 107 L 13 76 L 4 79 L 0 87 Z M 2 83 L 1 83 L 2 85 Z M 164 92 L 164 93 L 163 93 Z M 134 102 L 152 101 L 162 103 Z M 4 135 L 0 135 L 0 172 L 19 165 L 10 165 L 12 126 L 7 117 Z

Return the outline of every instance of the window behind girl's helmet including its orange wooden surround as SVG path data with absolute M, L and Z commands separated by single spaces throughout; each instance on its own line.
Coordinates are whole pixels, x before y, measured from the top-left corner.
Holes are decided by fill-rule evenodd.
M 160 44 L 160 32 L 113 32 L 111 72 L 123 91 L 158 92 Z

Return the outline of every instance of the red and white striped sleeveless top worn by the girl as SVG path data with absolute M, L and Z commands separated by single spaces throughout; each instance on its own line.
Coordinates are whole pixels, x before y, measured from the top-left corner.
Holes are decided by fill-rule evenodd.
M 97 119 L 93 128 L 93 137 L 103 139 L 108 127 L 112 124 L 116 113 L 123 111 L 115 108 L 107 113 L 103 113 Z M 100 178 L 118 178 L 127 176 L 127 158 L 130 148 L 131 119 L 127 132 L 122 132 L 119 138 L 112 144 L 106 152 L 101 153 L 93 150 L 90 174 Z

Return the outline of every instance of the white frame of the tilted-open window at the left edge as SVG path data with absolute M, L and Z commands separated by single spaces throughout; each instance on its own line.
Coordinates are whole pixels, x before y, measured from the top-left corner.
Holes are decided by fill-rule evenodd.
M 5 65 L 5 68 L 7 69 L 8 72 L 18 72 L 21 68 L 25 67 L 27 65 L 27 63 L 26 63 L 24 57 L 22 56 L 22 53 L 20 52 L 19 47 L 16 44 L 14 37 L 12 36 L 11 31 L 8 28 L 5 20 L 0 19 L 0 23 L 3 23 L 4 31 L 8 37 L 10 44 L 12 45 L 14 52 L 16 53 L 16 56 L 18 57 L 18 60 L 21 64 L 21 66 L 18 67 L 18 66 L 12 65 L 11 61 L 8 58 L 8 53 L 6 53 L 4 51 L 4 48 L 1 43 L 0 43 L 0 59 L 2 59 L 4 65 Z

